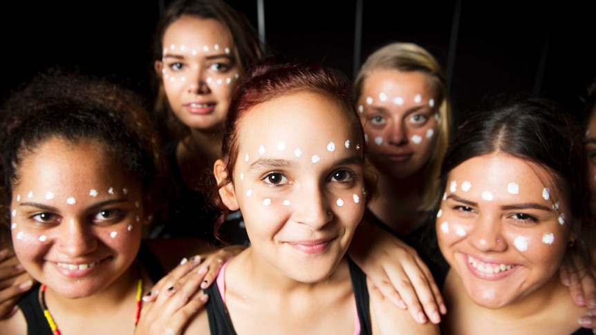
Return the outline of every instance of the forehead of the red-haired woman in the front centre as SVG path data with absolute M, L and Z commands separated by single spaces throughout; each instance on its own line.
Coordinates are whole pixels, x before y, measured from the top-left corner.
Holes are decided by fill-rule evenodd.
M 351 119 L 358 123 L 351 124 Z M 360 141 L 358 126 L 358 119 L 348 119 L 333 99 L 306 91 L 290 93 L 246 112 L 239 125 L 239 148 L 279 142 L 302 148 L 324 144 L 324 148 L 330 141 L 339 146 L 346 140 L 355 146 Z

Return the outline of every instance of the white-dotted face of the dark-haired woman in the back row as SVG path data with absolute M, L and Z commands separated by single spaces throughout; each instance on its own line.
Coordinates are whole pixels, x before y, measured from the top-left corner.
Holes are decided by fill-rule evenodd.
M 156 70 L 171 109 L 189 128 L 213 130 L 227 115 L 240 72 L 230 36 L 218 21 L 188 15 L 165 31 Z

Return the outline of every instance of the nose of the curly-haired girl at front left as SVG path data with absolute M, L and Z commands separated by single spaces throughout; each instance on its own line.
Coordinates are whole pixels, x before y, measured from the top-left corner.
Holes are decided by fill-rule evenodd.
M 59 251 L 70 256 L 79 257 L 97 248 L 97 238 L 92 228 L 82 220 L 75 218 L 63 221 L 57 236 Z

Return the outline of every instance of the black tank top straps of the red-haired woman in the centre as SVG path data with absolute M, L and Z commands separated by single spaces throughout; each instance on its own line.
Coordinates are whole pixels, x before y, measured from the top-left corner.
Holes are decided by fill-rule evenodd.
M 349 257 L 348 265 L 350 278 L 356 300 L 356 310 L 360 320 L 360 335 L 371 335 L 371 314 L 369 308 L 369 288 L 366 286 L 366 275 Z M 207 317 L 209 318 L 209 330 L 212 335 L 236 335 L 230 314 L 221 300 L 221 294 L 217 285 L 207 287 L 205 293 L 209 294 L 207 301 Z

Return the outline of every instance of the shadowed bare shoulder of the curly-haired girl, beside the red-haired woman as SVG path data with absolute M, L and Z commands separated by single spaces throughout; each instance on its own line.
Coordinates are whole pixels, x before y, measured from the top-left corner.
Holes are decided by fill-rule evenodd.
M 202 255 L 215 250 L 212 245 L 199 238 L 156 238 L 144 242 L 156 254 L 166 271 L 174 269 L 183 258 Z

